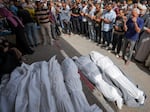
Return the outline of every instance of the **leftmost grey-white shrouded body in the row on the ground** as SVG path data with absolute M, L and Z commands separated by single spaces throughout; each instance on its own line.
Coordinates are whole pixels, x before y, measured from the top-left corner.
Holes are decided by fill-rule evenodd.
M 26 71 L 16 68 L 10 75 L 10 80 L 5 83 L 0 91 L 0 112 L 15 112 L 15 101 L 18 86 Z

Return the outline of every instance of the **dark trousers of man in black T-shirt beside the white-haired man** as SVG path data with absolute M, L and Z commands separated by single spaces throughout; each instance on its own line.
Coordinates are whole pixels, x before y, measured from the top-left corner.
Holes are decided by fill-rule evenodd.
M 112 50 L 115 50 L 117 47 L 117 54 L 120 53 L 121 47 L 122 47 L 122 39 L 124 37 L 124 34 L 117 34 L 114 33 L 113 35 L 113 42 L 112 42 Z

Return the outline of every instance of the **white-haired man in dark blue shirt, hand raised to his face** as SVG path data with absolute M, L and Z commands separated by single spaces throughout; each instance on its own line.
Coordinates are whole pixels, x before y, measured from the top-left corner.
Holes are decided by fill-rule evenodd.
M 124 19 L 125 41 L 123 44 L 123 58 L 125 64 L 128 64 L 132 58 L 133 49 L 139 38 L 139 33 L 144 26 L 143 19 L 139 18 L 140 11 L 137 8 L 132 10 L 132 17 L 128 21 Z

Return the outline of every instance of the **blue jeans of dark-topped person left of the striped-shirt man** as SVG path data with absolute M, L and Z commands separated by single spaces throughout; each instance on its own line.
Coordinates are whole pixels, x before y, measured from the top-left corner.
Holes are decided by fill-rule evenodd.
M 39 38 L 38 38 L 38 32 L 37 27 L 35 23 L 27 23 L 25 25 L 25 31 L 27 34 L 27 38 L 29 40 L 30 45 L 37 45 Z

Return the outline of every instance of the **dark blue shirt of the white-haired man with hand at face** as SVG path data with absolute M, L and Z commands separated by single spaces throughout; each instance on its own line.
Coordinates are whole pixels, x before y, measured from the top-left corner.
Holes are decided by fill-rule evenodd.
M 134 26 L 134 23 L 133 23 L 133 21 L 132 21 L 131 18 L 129 18 L 129 20 L 127 21 L 126 25 L 127 25 L 127 27 L 128 27 L 128 30 L 127 30 L 127 32 L 126 32 L 126 38 L 127 38 L 127 39 L 131 39 L 131 40 L 133 40 L 133 41 L 138 40 L 138 38 L 139 38 L 139 33 L 137 33 L 137 32 L 135 31 L 135 26 Z M 144 26 L 144 20 L 138 17 L 138 18 L 137 18 L 137 25 L 138 25 L 138 27 L 139 27 L 140 29 L 142 29 L 142 27 Z

